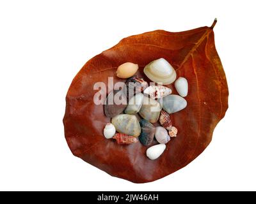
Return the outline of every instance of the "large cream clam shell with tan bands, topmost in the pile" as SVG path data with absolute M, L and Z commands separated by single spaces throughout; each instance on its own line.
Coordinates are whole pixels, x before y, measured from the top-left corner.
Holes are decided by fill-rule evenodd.
M 164 85 L 172 84 L 176 79 L 175 69 L 163 58 L 150 62 L 143 71 L 150 80 L 161 82 Z

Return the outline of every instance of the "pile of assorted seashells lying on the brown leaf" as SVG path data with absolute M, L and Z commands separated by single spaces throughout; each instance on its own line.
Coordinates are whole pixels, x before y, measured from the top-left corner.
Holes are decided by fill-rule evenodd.
M 104 136 L 115 139 L 120 145 L 136 143 L 138 139 L 143 145 L 150 145 L 156 138 L 159 144 L 147 149 L 147 157 L 157 159 L 163 154 L 170 138 L 177 136 L 170 114 L 186 108 L 184 97 L 188 95 L 188 81 L 184 77 L 175 81 L 175 69 L 163 58 L 150 62 L 143 70 L 157 85 L 148 86 L 143 78 L 134 76 L 138 68 L 138 64 L 131 62 L 118 66 L 117 77 L 127 80 L 124 89 L 114 90 L 106 98 L 104 112 L 111 118 L 111 123 L 106 124 Z M 172 94 L 172 89 L 164 86 L 173 82 L 180 96 Z M 123 97 L 128 103 L 110 103 L 115 97 Z M 161 126 L 155 127 L 152 123 L 158 120 Z

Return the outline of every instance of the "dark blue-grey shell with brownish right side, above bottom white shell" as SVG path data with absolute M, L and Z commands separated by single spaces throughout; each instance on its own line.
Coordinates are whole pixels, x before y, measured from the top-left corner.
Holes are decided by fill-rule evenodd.
M 139 140 L 143 145 L 150 145 L 154 139 L 156 128 L 147 120 L 140 120 L 141 133 Z

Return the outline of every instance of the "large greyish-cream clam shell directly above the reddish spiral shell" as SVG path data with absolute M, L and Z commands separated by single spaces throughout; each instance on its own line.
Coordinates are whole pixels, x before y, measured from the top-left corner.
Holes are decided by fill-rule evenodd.
M 140 135 L 140 123 L 135 115 L 116 115 L 112 118 L 111 123 L 115 126 L 118 133 L 124 133 L 135 137 Z

